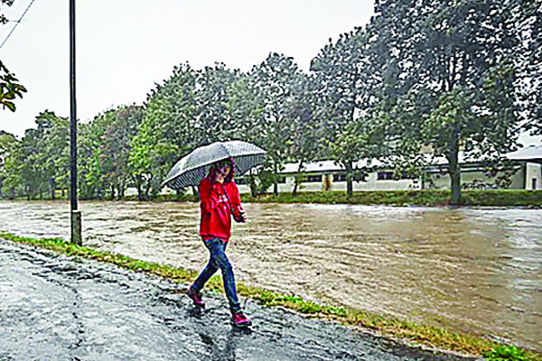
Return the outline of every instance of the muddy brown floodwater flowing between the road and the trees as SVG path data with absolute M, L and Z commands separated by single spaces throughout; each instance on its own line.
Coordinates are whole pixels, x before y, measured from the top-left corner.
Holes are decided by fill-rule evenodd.
M 200 271 L 194 203 L 81 202 L 84 244 Z M 247 204 L 239 282 L 542 350 L 542 211 Z M 0 230 L 70 236 L 67 202 L 0 202 Z

